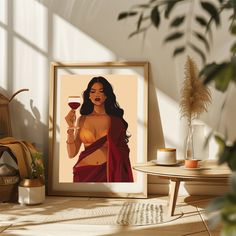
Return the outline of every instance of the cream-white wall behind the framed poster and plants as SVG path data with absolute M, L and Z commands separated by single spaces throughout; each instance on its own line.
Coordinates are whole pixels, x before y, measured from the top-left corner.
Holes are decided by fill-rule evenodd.
M 117 21 L 120 12 L 144 0 L 1 0 L 0 1 L 0 87 L 11 96 L 21 88 L 11 104 L 15 137 L 31 140 L 48 155 L 49 65 L 51 61 L 117 61 L 145 60 L 151 64 L 149 84 L 148 159 L 156 158 L 156 149 L 176 147 L 183 157 L 185 122 L 179 114 L 179 92 L 184 78 L 185 56 L 172 57 L 174 44 L 163 45 L 168 31 L 163 22 L 159 31 L 150 28 L 145 40 L 128 39 L 135 20 Z M 181 11 L 186 9 L 181 9 Z M 197 10 L 197 9 L 195 9 Z M 178 11 L 178 12 L 181 12 Z M 222 28 L 214 30 L 214 42 L 208 61 L 229 57 L 232 39 L 228 34 L 228 18 Z M 200 59 L 192 51 L 199 67 Z M 213 102 L 202 116 L 208 128 L 227 129 L 236 138 L 235 88 L 229 91 L 228 106 L 222 112 L 225 94 L 212 90 Z M 220 116 L 221 123 L 219 123 Z M 149 114 L 150 115 L 150 114 Z M 216 146 L 210 142 L 210 158 Z M 150 183 L 160 180 L 150 178 Z M 155 192 L 156 190 L 150 190 Z

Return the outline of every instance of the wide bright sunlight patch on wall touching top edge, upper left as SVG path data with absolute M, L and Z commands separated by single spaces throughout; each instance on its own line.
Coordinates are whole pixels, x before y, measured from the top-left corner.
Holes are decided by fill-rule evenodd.
M 47 44 L 47 8 L 37 1 L 14 1 L 14 31 L 43 51 Z

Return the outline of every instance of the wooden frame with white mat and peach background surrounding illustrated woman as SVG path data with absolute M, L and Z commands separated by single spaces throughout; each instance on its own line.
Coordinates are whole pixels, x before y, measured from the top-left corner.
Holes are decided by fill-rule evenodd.
M 88 82 L 105 77 L 128 123 L 131 167 L 147 161 L 148 62 L 51 63 L 49 105 L 48 194 L 64 196 L 147 197 L 147 177 L 132 169 L 134 182 L 73 182 L 72 167 L 78 157 L 66 151 L 69 95 L 83 97 Z M 77 114 L 79 115 L 79 111 Z

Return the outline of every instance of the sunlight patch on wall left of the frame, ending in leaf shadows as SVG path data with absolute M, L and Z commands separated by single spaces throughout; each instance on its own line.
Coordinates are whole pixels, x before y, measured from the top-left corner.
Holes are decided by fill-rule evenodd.
M 25 108 L 30 111 L 29 98 L 32 98 L 40 110 L 42 121 L 47 122 L 48 118 L 45 111 L 47 104 L 45 98 L 47 98 L 49 86 L 47 58 L 17 38 L 14 40 L 13 47 L 13 91 L 29 88 L 28 96 L 21 96 L 21 101 L 25 104 Z

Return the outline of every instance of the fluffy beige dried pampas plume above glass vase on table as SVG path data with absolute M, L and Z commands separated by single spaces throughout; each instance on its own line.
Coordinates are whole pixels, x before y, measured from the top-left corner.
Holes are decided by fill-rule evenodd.
M 193 119 L 197 118 L 202 112 L 207 112 L 210 103 L 210 90 L 202 83 L 196 63 L 188 56 L 185 63 L 185 78 L 181 89 L 181 117 L 186 117 L 188 125 L 191 125 Z

